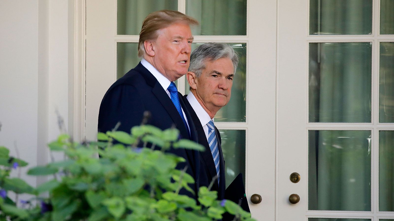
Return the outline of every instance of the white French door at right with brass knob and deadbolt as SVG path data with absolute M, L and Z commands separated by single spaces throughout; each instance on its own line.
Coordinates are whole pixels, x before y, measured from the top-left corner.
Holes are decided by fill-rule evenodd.
M 276 220 L 394 220 L 388 5 L 278 1 Z

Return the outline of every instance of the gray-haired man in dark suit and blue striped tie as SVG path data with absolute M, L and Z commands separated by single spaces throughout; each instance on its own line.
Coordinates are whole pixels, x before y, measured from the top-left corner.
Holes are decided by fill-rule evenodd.
M 238 65 L 238 55 L 224 43 L 206 43 L 190 55 L 186 78 L 190 84 L 189 95 L 184 102 L 197 130 L 198 141 L 206 147 L 200 152 L 200 186 L 210 186 L 225 197 L 225 163 L 221 150 L 221 138 L 214 125 L 214 116 L 225 106 L 231 96 L 232 81 Z

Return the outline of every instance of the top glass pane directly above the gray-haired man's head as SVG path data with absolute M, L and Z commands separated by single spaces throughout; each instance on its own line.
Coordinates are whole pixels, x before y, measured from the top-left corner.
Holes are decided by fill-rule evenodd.
M 186 0 L 186 15 L 200 22 L 193 35 L 246 35 L 247 0 Z

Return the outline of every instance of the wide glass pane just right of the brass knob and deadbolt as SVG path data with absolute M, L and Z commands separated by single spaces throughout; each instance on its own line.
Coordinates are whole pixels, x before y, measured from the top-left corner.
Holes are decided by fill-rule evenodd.
M 371 132 L 310 130 L 309 210 L 371 211 Z

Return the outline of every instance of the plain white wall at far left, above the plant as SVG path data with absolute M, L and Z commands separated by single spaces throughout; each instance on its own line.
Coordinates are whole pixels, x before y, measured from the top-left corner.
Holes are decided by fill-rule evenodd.
M 16 156 L 16 143 L 29 167 L 48 162 L 55 110 L 69 126 L 73 2 L 0 0 L 0 146 Z M 33 186 L 45 181 L 22 176 Z

